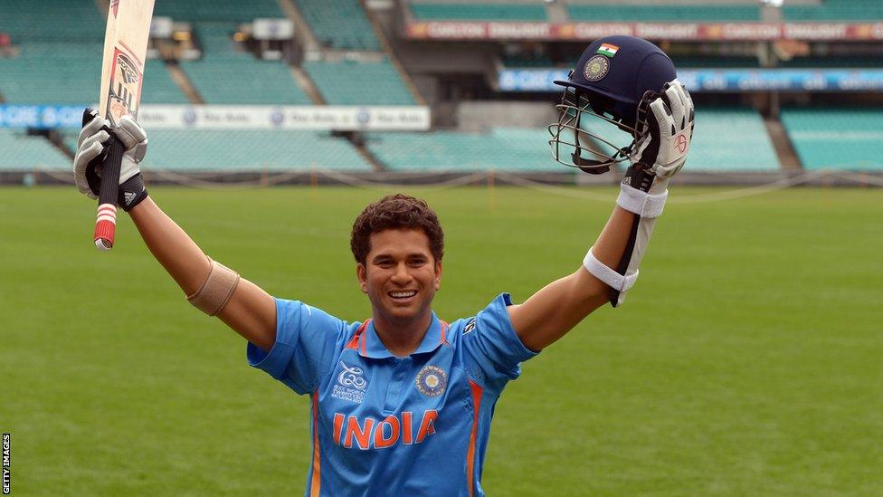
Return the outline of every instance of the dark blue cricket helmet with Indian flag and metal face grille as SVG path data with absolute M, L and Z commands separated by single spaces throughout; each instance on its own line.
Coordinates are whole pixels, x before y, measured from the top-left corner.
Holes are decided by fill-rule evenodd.
M 659 47 L 634 36 L 605 36 L 591 43 L 565 81 L 558 122 L 548 127 L 552 157 L 569 167 L 602 174 L 629 157 L 646 126 L 646 102 L 660 96 L 663 86 L 677 77 L 669 56 Z M 642 105 L 644 102 L 644 105 Z M 593 119 L 586 119 L 592 116 Z M 627 146 L 612 143 L 611 134 L 597 126 L 602 119 L 631 135 Z M 591 128 L 590 128 L 591 127 Z M 573 139 L 570 139 L 570 137 Z M 584 157 L 583 152 L 589 155 Z

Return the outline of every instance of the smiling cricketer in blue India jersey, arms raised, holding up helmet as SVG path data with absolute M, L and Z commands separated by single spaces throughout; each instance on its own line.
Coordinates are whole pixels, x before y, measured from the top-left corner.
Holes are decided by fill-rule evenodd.
M 119 205 L 188 300 L 248 340 L 252 366 L 311 397 L 306 494 L 481 495 L 493 408 L 519 363 L 605 302 L 621 304 L 637 278 L 669 177 L 683 166 L 692 136 L 692 100 L 674 76 L 658 48 L 614 36 L 590 45 L 569 79 L 557 81 L 565 95 L 561 119 L 550 127 L 554 157 L 590 173 L 628 160 L 621 195 L 574 272 L 521 304 L 501 294 L 464 320 L 448 323 L 432 312 L 443 235 L 419 199 L 387 196 L 356 220 L 356 276 L 372 317 L 353 323 L 274 299 L 203 253 L 147 196 L 138 168 L 147 134 L 127 118 L 111 131 L 128 150 Z M 582 120 L 590 115 L 629 130 L 631 147 L 607 156 L 587 145 L 594 135 Z M 81 192 L 94 197 L 109 129 L 90 116 L 74 171 Z

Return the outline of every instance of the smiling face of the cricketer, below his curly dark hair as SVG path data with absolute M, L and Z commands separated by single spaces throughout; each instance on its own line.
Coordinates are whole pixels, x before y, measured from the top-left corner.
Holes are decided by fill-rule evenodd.
M 371 234 L 371 251 L 365 264 L 356 267 L 356 275 L 371 301 L 375 320 L 396 327 L 429 327 L 432 299 L 442 284 L 442 263 L 432 257 L 423 230 L 388 229 Z

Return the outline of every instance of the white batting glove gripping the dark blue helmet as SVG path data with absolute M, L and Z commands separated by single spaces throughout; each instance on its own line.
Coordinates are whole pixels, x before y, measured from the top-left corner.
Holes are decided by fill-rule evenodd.
M 632 164 L 660 178 L 678 174 L 687 161 L 694 114 L 693 99 L 678 80 L 666 83 L 661 94 L 647 95 L 638 106 Z

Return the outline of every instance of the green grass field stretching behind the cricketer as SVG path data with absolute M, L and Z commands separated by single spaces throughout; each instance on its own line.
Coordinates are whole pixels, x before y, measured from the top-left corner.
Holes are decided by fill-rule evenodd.
M 572 272 L 615 196 L 407 191 L 445 227 L 447 320 Z M 348 236 L 379 192 L 151 193 L 268 292 L 368 316 Z M 128 217 L 103 254 L 94 203 L 72 187 L 0 188 L 0 218 L 14 495 L 303 492 L 309 399 L 246 365 L 244 341 L 186 304 Z M 883 190 L 669 204 L 629 301 L 500 399 L 489 495 L 883 493 L 881 219 Z

